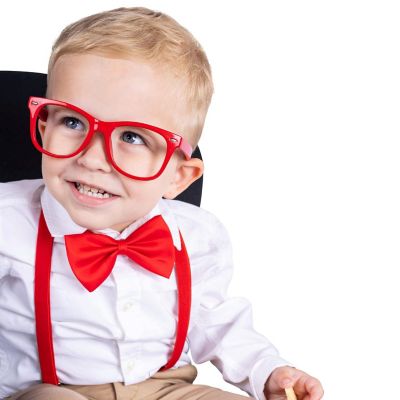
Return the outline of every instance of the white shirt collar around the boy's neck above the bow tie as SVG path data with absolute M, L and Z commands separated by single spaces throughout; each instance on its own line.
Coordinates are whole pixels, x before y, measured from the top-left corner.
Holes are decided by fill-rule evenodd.
M 54 237 L 56 242 L 63 242 L 65 235 L 73 235 L 83 233 L 87 228 L 76 224 L 69 216 L 67 210 L 53 197 L 45 186 L 40 197 L 43 214 L 49 228 L 50 234 Z M 142 226 L 145 222 L 149 221 L 156 215 L 161 215 L 167 224 L 174 242 L 174 246 L 181 250 L 181 240 L 179 236 L 179 229 L 174 215 L 170 209 L 165 206 L 164 200 L 161 199 L 158 204 L 145 216 L 132 222 L 121 233 L 110 228 L 93 230 L 94 233 L 100 233 L 112 237 L 113 239 L 120 240 L 126 239 L 133 231 Z

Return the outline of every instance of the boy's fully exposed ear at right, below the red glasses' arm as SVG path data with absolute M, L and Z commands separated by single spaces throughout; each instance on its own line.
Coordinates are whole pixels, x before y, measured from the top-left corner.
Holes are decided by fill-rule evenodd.
M 182 160 L 178 163 L 174 180 L 170 183 L 168 191 L 164 193 L 166 199 L 173 199 L 182 193 L 195 180 L 203 175 L 204 164 L 199 158 Z

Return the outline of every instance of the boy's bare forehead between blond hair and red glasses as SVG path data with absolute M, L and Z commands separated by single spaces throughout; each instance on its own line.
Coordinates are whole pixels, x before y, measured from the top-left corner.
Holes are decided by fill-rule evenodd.
M 180 134 L 183 90 L 181 80 L 144 60 L 68 54 L 54 64 L 47 97 L 105 121 L 140 121 Z

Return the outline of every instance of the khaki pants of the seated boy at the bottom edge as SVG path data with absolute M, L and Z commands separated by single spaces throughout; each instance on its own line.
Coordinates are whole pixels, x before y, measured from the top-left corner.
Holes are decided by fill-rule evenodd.
M 125 386 L 40 384 L 11 396 L 10 400 L 243 400 L 247 396 L 224 392 L 205 385 L 193 385 L 197 369 L 193 365 L 157 372 L 151 378 Z

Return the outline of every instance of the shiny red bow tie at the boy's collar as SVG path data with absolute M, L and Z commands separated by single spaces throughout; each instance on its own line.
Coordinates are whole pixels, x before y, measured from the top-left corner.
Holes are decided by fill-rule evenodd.
M 123 240 L 90 231 L 64 238 L 72 271 L 90 292 L 110 275 L 118 254 L 128 256 L 140 266 L 165 278 L 170 277 L 174 267 L 174 243 L 160 215 Z

